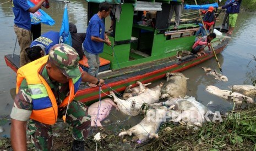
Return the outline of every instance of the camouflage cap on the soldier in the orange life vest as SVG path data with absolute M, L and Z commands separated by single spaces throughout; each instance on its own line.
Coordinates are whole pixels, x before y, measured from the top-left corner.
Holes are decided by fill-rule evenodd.
M 69 78 L 81 75 L 78 65 L 79 55 L 74 48 L 67 44 L 54 45 L 50 50 L 48 60 Z

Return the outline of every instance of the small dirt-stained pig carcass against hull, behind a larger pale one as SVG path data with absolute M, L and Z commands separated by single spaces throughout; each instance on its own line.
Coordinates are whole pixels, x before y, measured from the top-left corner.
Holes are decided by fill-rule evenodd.
M 127 100 L 130 97 L 142 94 L 147 89 L 146 86 L 151 84 L 151 83 L 142 84 L 139 81 L 137 81 L 136 83 L 139 86 L 135 86 L 134 88 L 132 88 L 132 85 L 129 85 L 129 86 L 126 87 L 126 90 L 124 90 L 124 93 L 123 93 L 123 99 L 124 100 Z

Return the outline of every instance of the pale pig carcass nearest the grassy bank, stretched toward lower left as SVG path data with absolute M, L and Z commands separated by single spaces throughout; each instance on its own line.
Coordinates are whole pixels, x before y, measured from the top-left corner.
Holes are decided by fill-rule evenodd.
M 165 120 L 166 113 L 166 107 L 165 109 L 149 109 L 146 112 L 145 118 L 141 120 L 139 124 L 131 127 L 127 131 L 119 133 L 118 136 L 134 135 L 133 141 L 139 143 L 146 142 L 150 138 L 158 138 L 157 131 L 162 121 Z

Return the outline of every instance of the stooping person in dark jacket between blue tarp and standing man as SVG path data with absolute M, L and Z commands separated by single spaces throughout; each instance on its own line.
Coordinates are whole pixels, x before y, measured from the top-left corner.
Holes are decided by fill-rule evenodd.
M 78 33 L 77 26 L 72 22 L 69 22 L 69 32 L 72 37 L 72 47 L 79 54 L 79 59 L 82 60 L 84 56 L 84 51 L 82 48 L 82 43 L 84 42 L 86 33 Z

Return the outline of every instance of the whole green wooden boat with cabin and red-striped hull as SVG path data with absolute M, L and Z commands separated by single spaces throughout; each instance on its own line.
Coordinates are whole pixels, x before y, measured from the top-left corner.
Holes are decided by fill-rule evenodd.
M 105 79 L 106 84 L 100 90 L 81 84 L 75 97 L 77 100 L 90 104 L 105 97 L 110 90 L 122 92 L 128 85 L 135 86 L 137 80 L 149 83 L 165 77 L 166 72 L 181 72 L 214 57 L 213 51 L 205 50 L 205 55 L 183 54 L 177 58 L 178 52 L 192 50 L 199 26 L 180 24 L 174 30 L 168 21 L 171 1 L 113 2 L 118 3 L 113 5 L 117 9 L 121 8 L 121 13 L 114 20 L 113 31 L 110 32 L 112 47 L 104 45 L 104 53 L 100 54 L 105 62 L 100 67 L 99 78 Z M 99 3 L 88 2 L 88 22 L 98 8 Z M 141 19 L 143 9 L 156 12 L 150 26 L 140 24 L 138 20 Z M 110 22 L 110 19 L 105 20 L 106 29 Z M 215 53 L 219 54 L 228 42 L 228 38 L 215 38 L 211 44 Z M 5 56 L 7 65 L 14 71 L 19 67 L 15 59 L 17 57 Z M 88 69 L 86 61 L 81 64 L 85 70 Z

